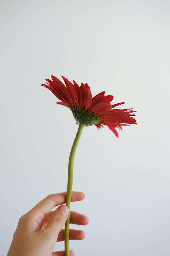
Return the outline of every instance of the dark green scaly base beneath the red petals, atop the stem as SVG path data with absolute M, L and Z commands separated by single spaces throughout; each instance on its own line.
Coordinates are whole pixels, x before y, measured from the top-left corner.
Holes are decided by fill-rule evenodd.
M 102 122 L 100 115 L 93 114 L 94 112 L 91 113 L 91 111 L 88 109 L 84 111 L 84 108 L 79 109 L 78 107 L 73 107 L 71 111 L 75 120 L 80 124 L 84 124 L 85 126 L 95 125 Z

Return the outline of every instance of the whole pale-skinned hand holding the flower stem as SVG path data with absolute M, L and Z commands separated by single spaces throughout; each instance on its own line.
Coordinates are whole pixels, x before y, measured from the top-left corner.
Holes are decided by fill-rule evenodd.
M 72 192 L 71 202 L 81 201 L 85 197 L 83 192 Z M 29 212 L 24 214 L 18 222 L 13 240 L 7 256 L 64 256 L 64 251 L 53 252 L 56 241 L 64 241 L 64 226 L 68 207 L 64 204 L 66 193 L 47 196 Z M 55 211 L 55 206 L 61 205 Z M 70 223 L 87 225 L 88 218 L 77 212 L 70 212 Z M 70 229 L 70 239 L 83 239 L 82 230 Z M 70 250 L 70 256 L 74 251 Z

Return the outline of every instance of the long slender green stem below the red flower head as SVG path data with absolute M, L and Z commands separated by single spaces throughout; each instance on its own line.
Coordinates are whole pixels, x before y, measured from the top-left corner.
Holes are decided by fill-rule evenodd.
M 65 256 L 69 256 L 69 225 L 70 225 L 70 202 L 71 202 L 71 190 L 73 184 L 73 163 L 75 151 L 77 149 L 77 145 L 84 128 L 84 124 L 79 124 L 79 128 L 74 140 L 74 143 L 71 148 L 69 162 L 68 162 L 68 181 L 67 181 L 67 196 L 66 196 L 66 205 L 69 208 L 69 214 L 67 221 L 65 223 L 65 231 L 64 231 L 64 241 L 65 241 Z

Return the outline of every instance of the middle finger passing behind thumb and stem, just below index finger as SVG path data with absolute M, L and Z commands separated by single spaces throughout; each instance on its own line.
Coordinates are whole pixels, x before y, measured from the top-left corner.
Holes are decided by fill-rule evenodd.
M 46 227 L 50 219 L 50 216 L 53 214 L 53 212 L 54 211 L 51 211 L 44 216 L 42 229 Z M 87 225 L 88 222 L 89 222 L 89 219 L 87 216 L 80 214 L 78 212 L 73 212 L 73 211 L 70 212 L 70 223 L 77 224 L 77 225 Z

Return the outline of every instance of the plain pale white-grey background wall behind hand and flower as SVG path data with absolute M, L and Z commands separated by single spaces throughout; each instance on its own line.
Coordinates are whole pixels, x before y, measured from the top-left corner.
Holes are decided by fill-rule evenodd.
M 86 127 L 71 209 L 87 215 L 75 255 L 170 255 L 169 1 L 1 0 L 1 254 L 21 215 L 66 190 L 78 126 L 40 86 L 55 75 L 136 110 L 119 139 Z M 125 105 L 124 105 L 125 106 Z M 124 107 L 123 106 L 123 107 Z M 80 228 L 80 227 L 79 227 Z M 63 250 L 57 243 L 55 250 Z

